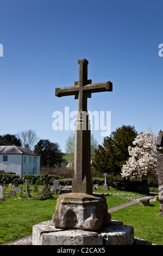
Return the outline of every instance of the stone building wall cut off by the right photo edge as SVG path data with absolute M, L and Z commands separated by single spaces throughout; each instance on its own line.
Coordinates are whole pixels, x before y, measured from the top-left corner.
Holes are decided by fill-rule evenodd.
M 155 142 L 157 157 L 157 173 L 159 185 L 160 216 L 163 216 L 163 131 L 159 131 Z

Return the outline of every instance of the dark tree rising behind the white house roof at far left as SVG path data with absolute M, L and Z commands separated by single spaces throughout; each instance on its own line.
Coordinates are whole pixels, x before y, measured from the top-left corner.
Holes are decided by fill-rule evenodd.
M 7 133 L 5 135 L 0 135 L 0 145 L 16 145 L 21 147 L 21 141 L 16 135 Z

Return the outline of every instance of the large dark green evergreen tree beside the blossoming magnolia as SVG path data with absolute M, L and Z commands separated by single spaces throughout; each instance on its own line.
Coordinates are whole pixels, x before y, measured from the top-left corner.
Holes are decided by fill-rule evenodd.
M 134 126 L 122 125 L 105 137 L 103 145 L 98 145 L 95 150 L 95 161 L 92 163 L 95 172 L 120 174 L 123 164 L 129 158 L 128 147 L 136 135 Z

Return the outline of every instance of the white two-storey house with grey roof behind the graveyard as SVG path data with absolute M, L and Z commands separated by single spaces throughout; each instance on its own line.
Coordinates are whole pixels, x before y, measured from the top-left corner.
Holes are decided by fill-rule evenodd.
M 0 171 L 12 172 L 19 175 L 37 174 L 40 170 L 40 156 L 38 148 L 35 153 L 18 146 L 0 146 Z

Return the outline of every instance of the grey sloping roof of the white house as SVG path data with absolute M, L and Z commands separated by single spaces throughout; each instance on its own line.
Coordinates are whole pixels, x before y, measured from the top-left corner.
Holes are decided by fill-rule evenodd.
M 33 155 L 36 156 L 33 151 L 29 149 L 27 152 L 25 148 L 18 147 L 18 146 L 0 146 L 0 154 L 26 154 L 26 155 Z

